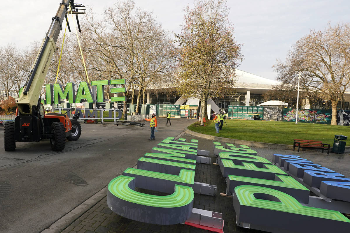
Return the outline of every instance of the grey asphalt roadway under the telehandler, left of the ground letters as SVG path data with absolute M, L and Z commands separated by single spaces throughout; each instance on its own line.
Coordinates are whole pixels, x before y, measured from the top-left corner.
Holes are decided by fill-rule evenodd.
M 16 150 L 3 149 L 0 130 L 0 232 L 36 233 L 106 187 L 126 168 L 161 140 L 175 137 L 194 119 L 158 118 L 156 140 L 149 141 L 144 127 L 82 124 L 77 141 L 66 141 L 61 152 L 50 141 L 16 143 Z

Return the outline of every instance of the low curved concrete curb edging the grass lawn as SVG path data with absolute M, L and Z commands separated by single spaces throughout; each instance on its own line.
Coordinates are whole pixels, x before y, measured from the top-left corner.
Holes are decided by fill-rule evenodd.
M 188 125 L 189 126 L 189 125 Z M 238 145 L 246 145 L 246 146 L 252 146 L 252 147 L 261 147 L 261 148 L 268 148 L 268 149 L 279 149 L 279 150 L 293 150 L 293 145 L 285 145 L 285 144 L 275 144 L 275 143 L 261 143 L 258 141 L 245 141 L 245 140 L 239 140 L 239 139 L 233 139 L 233 138 L 223 138 L 223 137 L 216 137 L 208 134 L 198 133 L 194 132 L 192 130 L 188 129 L 188 126 L 185 127 L 185 133 L 191 134 L 193 136 L 214 140 L 214 141 L 222 141 L 224 143 L 232 143 L 232 144 L 238 144 Z M 304 149 L 302 148 L 300 151 L 315 151 L 312 149 Z M 329 152 L 332 152 L 332 147 L 330 147 Z M 350 146 L 345 147 L 345 153 L 350 152 Z

